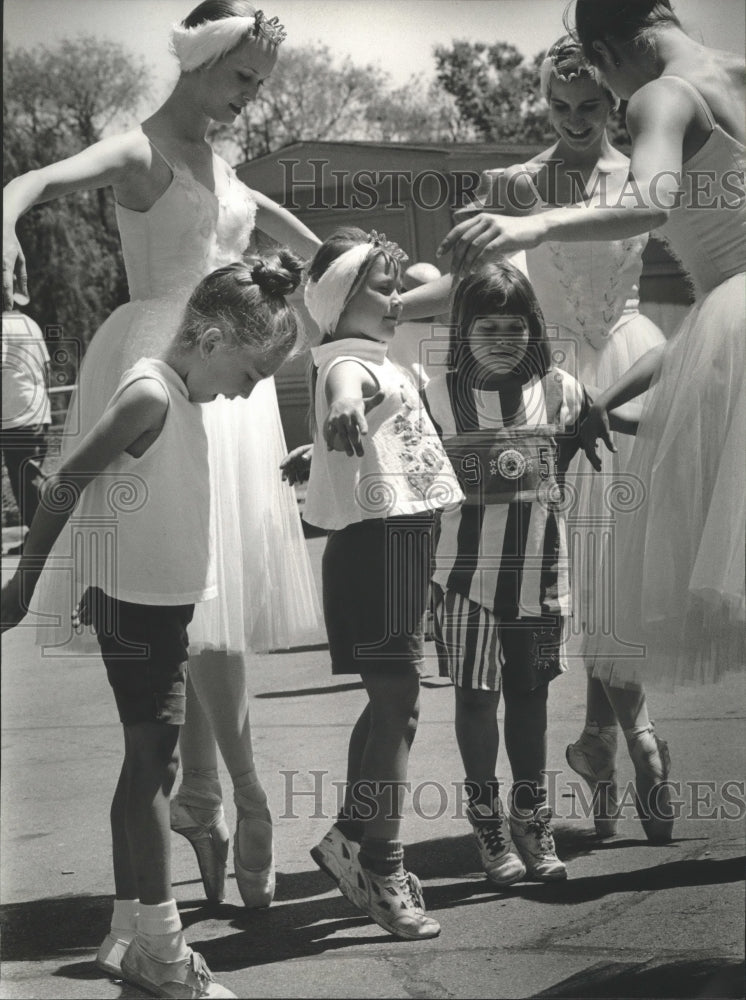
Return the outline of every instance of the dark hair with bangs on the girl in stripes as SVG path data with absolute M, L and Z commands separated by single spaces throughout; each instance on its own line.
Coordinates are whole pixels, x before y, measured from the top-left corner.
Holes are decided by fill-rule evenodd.
M 469 332 L 475 320 L 496 313 L 520 316 L 528 323 L 526 354 L 513 374 L 522 382 L 546 375 L 552 355 L 536 293 L 522 271 L 507 260 L 499 260 L 463 278 L 453 296 L 449 364 L 459 381 L 474 382 L 484 377 L 469 345 Z

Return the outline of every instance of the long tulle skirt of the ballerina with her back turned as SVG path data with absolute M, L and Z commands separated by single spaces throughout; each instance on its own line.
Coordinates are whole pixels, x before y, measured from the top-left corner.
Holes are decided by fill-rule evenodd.
M 620 495 L 593 676 L 616 687 L 715 681 L 743 666 L 746 277 L 713 289 L 669 342 Z

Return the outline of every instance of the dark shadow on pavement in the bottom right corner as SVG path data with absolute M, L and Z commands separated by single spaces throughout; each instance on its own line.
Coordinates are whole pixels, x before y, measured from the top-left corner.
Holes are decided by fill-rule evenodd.
M 744 963 L 734 959 L 700 959 L 688 962 L 599 962 L 575 976 L 556 983 L 539 997 L 743 997 Z

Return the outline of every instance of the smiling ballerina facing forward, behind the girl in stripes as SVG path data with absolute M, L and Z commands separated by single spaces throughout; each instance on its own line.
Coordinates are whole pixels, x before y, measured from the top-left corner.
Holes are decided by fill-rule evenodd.
M 528 163 L 487 171 L 478 192 L 482 204 L 519 216 L 540 215 L 588 198 L 594 204 L 613 201 L 629 176 L 629 159 L 607 135 L 609 115 L 619 99 L 569 35 L 550 47 L 540 79 L 557 142 Z M 647 241 L 647 233 L 606 243 L 546 240 L 526 253 L 529 277 L 551 328 L 552 348 L 562 358 L 557 363 L 588 386 L 592 395 L 613 385 L 647 351 L 663 344 L 661 331 L 638 308 Z M 634 440 L 620 435 L 614 443 L 615 451 L 601 456 L 600 476 L 580 456 L 567 470 L 577 632 L 600 628 L 609 601 L 600 553 L 614 518 L 609 498 L 616 495 L 615 489 L 625 488 L 624 470 Z M 608 716 L 608 710 L 603 714 Z M 599 725 L 589 715 L 589 731 Z M 615 739 L 616 726 L 611 732 L 604 727 L 601 735 Z M 568 748 L 568 762 L 581 773 L 587 771 L 582 752 L 574 747 Z M 594 820 L 599 836 L 609 837 L 617 827 L 614 771 L 602 779 L 594 783 Z

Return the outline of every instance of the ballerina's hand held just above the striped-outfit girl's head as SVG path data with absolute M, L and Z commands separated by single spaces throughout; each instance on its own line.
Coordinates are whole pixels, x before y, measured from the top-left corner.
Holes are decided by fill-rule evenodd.
M 453 227 L 438 247 L 438 256 L 453 250 L 451 271 L 466 275 L 483 258 L 513 254 L 538 246 L 542 235 L 543 225 L 539 216 L 520 218 L 480 212 Z

